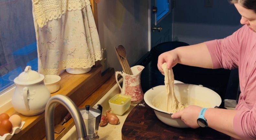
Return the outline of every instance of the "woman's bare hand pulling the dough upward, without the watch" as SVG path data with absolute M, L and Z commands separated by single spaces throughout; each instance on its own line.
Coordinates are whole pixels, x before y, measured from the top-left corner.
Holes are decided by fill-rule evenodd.
M 160 72 L 164 75 L 164 72 L 162 69 L 162 64 L 164 62 L 166 62 L 167 64 L 167 69 L 170 70 L 177 63 L 179 63 L 179 61 L 180 61 L 179 56 L 175 49 L 164 52 L 160 54 L 158 57 L 158 63 L 157 63 L 158 70 L 160 70 Z

